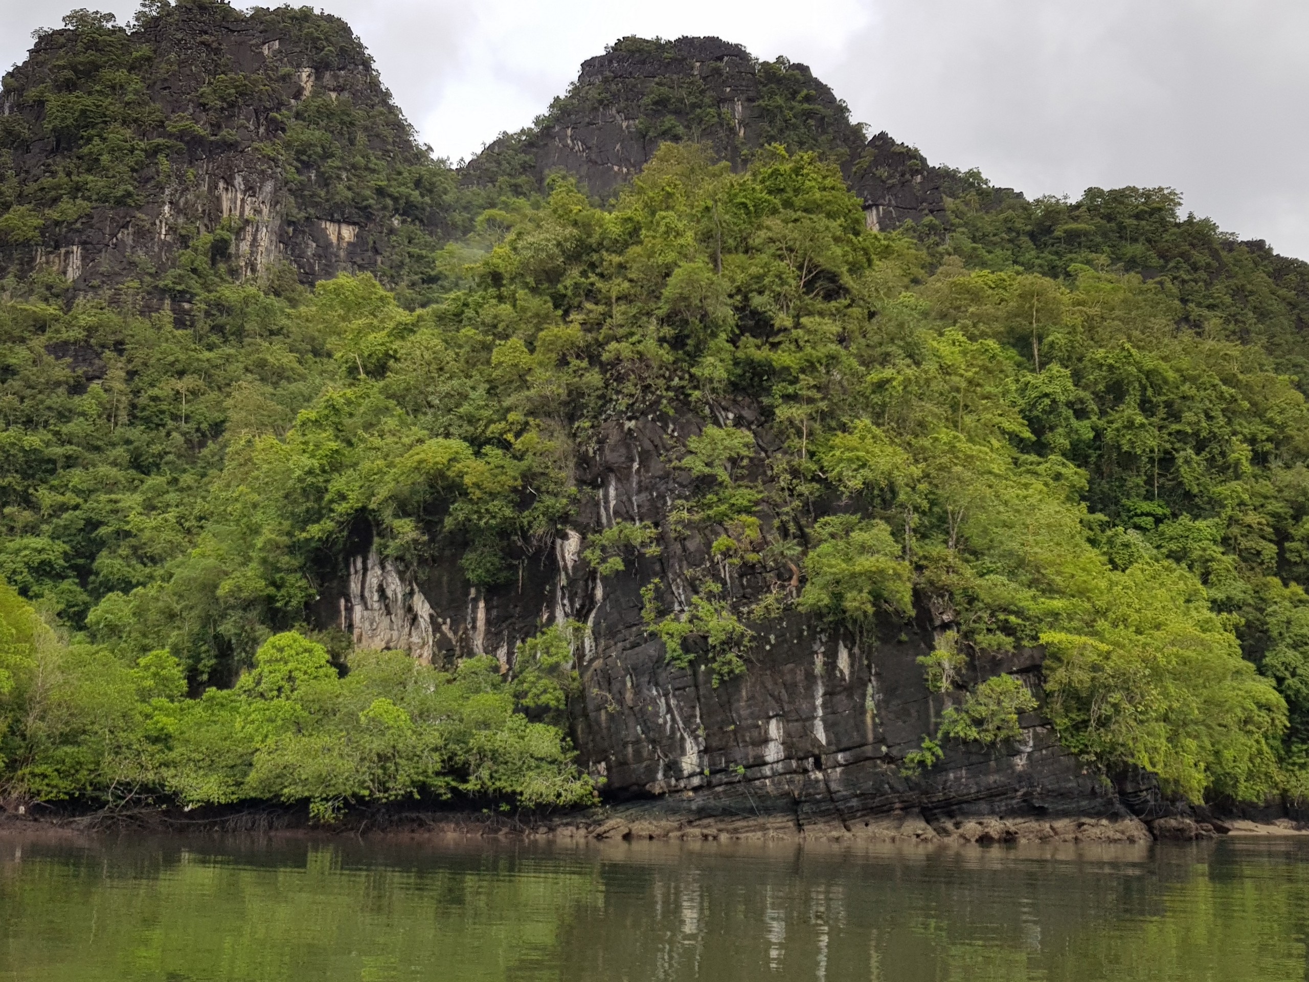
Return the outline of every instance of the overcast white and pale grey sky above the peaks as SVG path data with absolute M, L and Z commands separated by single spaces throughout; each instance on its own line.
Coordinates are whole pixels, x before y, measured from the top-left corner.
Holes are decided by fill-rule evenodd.
M 266 0 L 270 1 L 270 0 Z M 0 62 L 75 4 L 0 0 Z M 1309 258 L 1304 0 L 321 0 L 453 160 L 531 122 L 626 34 L 716 34 L 808 63 L 856 119 L 1028 195 L 1170 185 Z

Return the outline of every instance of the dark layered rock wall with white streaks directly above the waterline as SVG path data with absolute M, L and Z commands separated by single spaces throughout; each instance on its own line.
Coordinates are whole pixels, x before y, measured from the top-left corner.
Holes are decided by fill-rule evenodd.
M 857 644 L 787 618 L 762 628 L 763 651 L 745 676 L 715 689 L 704 669 L 669 666 L 639 621 L 617 627 L 585 668 L 579 731 L 615 796 L 672 793 L 692 813 L 781 816 L 797 827 L 906 810 L 929 820 L 1119 813 L 1035 715 L 1004 752 L 953 748 L 937 767 L 902 776 L 905 754 L 944 708 L 915 663 L 931 649 L 916 631 Z

